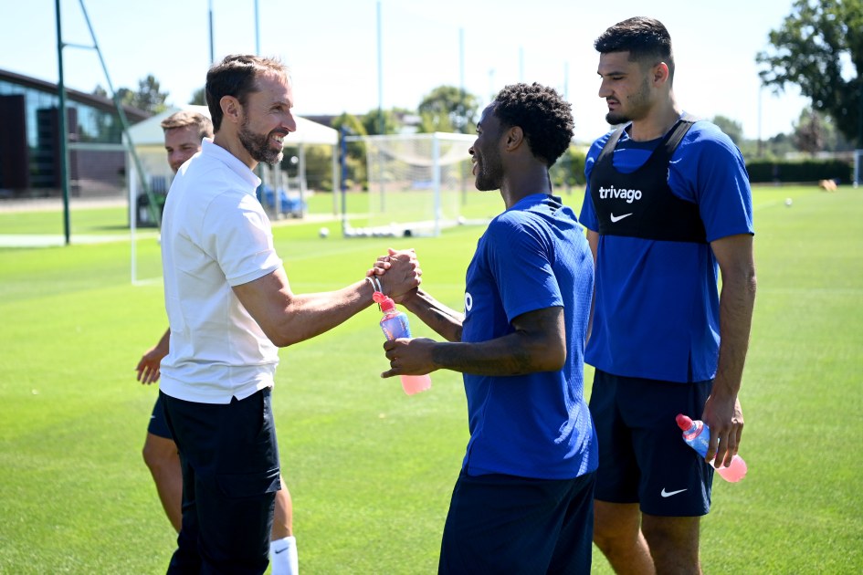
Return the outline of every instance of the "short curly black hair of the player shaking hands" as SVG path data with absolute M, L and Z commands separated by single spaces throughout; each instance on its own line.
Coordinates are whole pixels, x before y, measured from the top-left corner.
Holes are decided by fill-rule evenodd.
M 573 139 L 573 107 L 553 88 L 533 82 L 511 84 L 498 92 L 492 104 L 501 127 L 518 126 L 533 155 L 548 167 L 566 152 Z

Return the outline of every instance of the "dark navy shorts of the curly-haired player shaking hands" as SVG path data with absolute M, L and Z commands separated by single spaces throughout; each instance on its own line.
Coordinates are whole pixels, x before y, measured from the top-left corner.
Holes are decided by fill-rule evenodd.
M 594 473 L 552 481 L 462 471 L 438 575 L 589 573 L 594 480 Z

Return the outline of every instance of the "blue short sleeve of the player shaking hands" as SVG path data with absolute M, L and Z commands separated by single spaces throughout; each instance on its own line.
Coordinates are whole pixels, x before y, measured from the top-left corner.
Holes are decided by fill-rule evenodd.
M 508 321 L 536 309 L 563 306 L 550 261 L 553 246 L 529 216 L 501 214 L 486 235 L 489 269 L 497 278 Z

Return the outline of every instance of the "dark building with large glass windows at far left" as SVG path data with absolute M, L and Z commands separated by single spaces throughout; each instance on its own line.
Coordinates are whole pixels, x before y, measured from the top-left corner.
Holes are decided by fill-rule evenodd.
M 122 124 L 111 99 L 67 89 L 69 194 L 123 197 Z M 56 84 L 0 69 L 0 201 L 60 197 Z M 130 124 L 149 112 L 124 107 Z

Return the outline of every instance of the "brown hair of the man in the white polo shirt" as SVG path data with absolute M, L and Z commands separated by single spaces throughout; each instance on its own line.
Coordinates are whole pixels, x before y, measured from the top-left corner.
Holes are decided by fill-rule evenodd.
M 233 96 L 241 106 L 246 106 L 248 95 L 258 91 L 258 77 L 264 74 L 287 78 L 288 68 L 278 58 L 232 54 L 207 71 L 206 105 L 216 131 L 222 126 L 222 106 L 219 101 L 225 96 Z

